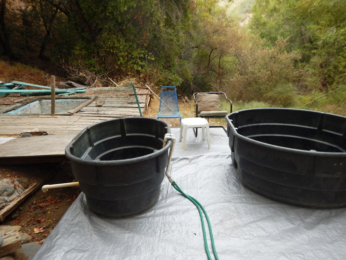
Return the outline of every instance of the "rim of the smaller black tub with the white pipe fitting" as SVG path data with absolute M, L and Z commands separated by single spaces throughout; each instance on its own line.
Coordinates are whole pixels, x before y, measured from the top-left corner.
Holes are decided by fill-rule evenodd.
M 168 123 L 166 123 L 165 121 L 159 120 L 159 119 L 155 119 L 155 118 L 151 118 L 151 117 L 137 117 L 137 116 L 130 116 L 130 117 L 119 117 L 119 118 L 112 118 L 112 119 L 108 119 L 108 120 L 104 120 L 104 121 L 100 121 L 100 122 L 96 122 L 93 123 L 92 125 L 87 126 L 86 128 L 84 128 L 81 132 L 79 132 L 73 139 L 72 141 L 66 146 L 65 148 L 65 156 L 69 159 L 69 160 L 74 160 L 77 163 L 82 163 L 82 164 L 87 164 L 87 165 L 122 165 L 122 164 L 130 164 L 130 163 L 137 163 L 140 161 L 144 161 L 147 159 L 151 159 L 157 156 L 160 156 L 162 154 L 164 154 L 170 147 L 171 147 L 171 143 L 172 141 L 169 139 L 167 141 L 167 144 L 165 147 L 161 148 L 160 150 L 157 150 L 151 154 L 145 155 L 145 156 L 138 156 L 138 157 L 134 157 L 134 158 L 129 158 L 129 159 L 121 159 L 121 160 L 87 160 L 87 159 L 82 159 L 80 157 L 74 156 L 71 154 L 70 149 L 73 146 L 72 143 L 75 142 L 84 132 L 88 131 L 88 129 L 90 129 L 91 127 L 94 127 L 97 124 L 102 124 L 106 121 L 110 121 L 110 120 L 121 120 L 121 119 L 133 119 L 133 118 L 146 118 L 149 120 L 154 120 L 154 121 L 159 121 L 162 122 L 166 125 L 166 128 L 168 130 L 167 133 L 171 133 L 171 128 L 169 126 Z

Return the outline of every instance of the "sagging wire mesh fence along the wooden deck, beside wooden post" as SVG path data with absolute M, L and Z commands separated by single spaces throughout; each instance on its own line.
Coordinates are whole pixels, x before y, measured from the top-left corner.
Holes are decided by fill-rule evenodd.
M 85 93 L 65 92 L 55 95 L 55 114 L 70 115 L 78 111 L 102 114 L 122 108 L 139 109 L 136 90 L 132 83 L 116 88 L 99 88 Z M 46 92 L 13 93 L 1 91 L 0 115 L 50 115 L 51 95 Z

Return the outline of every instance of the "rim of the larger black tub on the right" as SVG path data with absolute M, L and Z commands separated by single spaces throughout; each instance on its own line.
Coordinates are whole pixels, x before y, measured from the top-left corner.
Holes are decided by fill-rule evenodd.
M 229 119 L 230 115 L 236 114 L 236 113 L 239 113 L 239 112 L 245 111 L 245 110 L 249 111 L 249 110 L 271 110 L 271 109 L 292 110 L 292 111 L 309 111 L 309 112 L 314 112 L 314 113 L 318 113 L 318 114 L 329 114 L 329 115 L 333 115 L 333 116 L 339 116 L 339 117 L 346 118 L 345 116 L 342 116 L 342 115 L 320 112 L 320 111 L 315 111 L 315 110 L 298 109 L 298 108 L 283 108 L 283 107 L 263 107 L 263 108 L 242 109 L 242 110 L 238 110 L 238 111 L 229 113 L 228 115 L 225 116 L 225 119 L 227 121 L 227 126 L 229 126 L 230 131 L 232 131 L 232 133 L 235 137 L 242 139 L 246 142 L 249 142 L 251 144 L 254 144 L 257 146 L 262 146 L 262 147 L 267 148 L 267 149 L 273 149 L 273 150 L 285 152 L 285 153 L 295 153 L 295 154 L 309 155 L 309 156 L 346 157 L 346 152 L 333 153 L 333 152 L 305 151 L 305 150 L 300 150 L 300 149 L 287 148 L 287 147 L 283 147 L 283 146 L 276 146 L 276 145 L 263 143 L 263 142 L 260 142 L 260 141 L 257 141 L 257 140 L 254 140 L 254 139 L 251 139 L 249 137 L 246 137 L 246 136 L 239 134 L 236 130 L 238 128 L 235 127 L 232 124 L 232 121 Z M 229 132 L 227 133 L 227 135 L 229 136 Z

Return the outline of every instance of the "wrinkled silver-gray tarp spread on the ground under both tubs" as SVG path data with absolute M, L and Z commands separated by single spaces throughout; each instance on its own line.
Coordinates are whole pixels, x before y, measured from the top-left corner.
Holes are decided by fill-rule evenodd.
M 179 129 L 171 131 L 178 139 Z M 186 150 L 176 143 L 172 177 L 206 208 L 220 260 L 346 259 L 345 208 L 298 208 L 247 190 L 232 165 L 225 132 L 210 133 L 208 150 L 201 133 L 195 138 L 188 129 Z M 196 207 L 165 178 L 158 203 L 125 219 L 95 215 L 81 193 L 34 257 L 45 259 L 207 258 Z

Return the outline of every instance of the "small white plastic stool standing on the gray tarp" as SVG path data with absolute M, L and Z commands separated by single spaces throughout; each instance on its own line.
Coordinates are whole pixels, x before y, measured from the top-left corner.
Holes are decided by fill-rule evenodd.
M 194 128 L 194 127 L 202 127 L 203 140 L 206 140 L 206 130 L 207 130 L 208 149 L 210 149 L 208 121 L 205 118 L 201 118 L 201 117 L 191 117 L 191 118 L 181 119 L 179 142 L 181 142 L 181 139 L 182 139 L 182 150 L 185 150 L 187 128 Z

